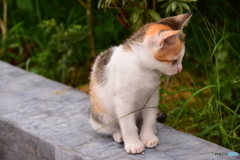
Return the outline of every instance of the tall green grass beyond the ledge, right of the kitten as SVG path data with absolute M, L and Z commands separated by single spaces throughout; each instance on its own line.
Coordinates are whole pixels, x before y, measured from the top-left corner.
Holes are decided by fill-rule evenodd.
M 180 86 L 169 84 L 162 91 L 160 108 L 169 115 L 166 124 L 240 152 L 240 84 L 236 77 L 240 75 L 240 54 L 231 44 L 231 38 L 239 35 L 228 33 L 227 23 L 217 28 L 198 14 L 204 26 L 190 24 L 195 44 L 189 42 L 187 54 L 199 58 L 200 64 L 191 63 L 191 78 L 186 72 L 175 77 Z M 188 60 L 187 55 L 183 65 Z M 188 92 L 184 98 L 183 92 Z M 166 100 L 173 96 L 175 101 Z

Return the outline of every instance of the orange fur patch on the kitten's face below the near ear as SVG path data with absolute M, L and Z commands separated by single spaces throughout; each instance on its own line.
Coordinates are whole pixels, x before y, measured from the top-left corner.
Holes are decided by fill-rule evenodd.
M 179 39 L 176 39 L 176 42 L 173 45 L 163 47 L 158 52 L 155 52 L 154 57 L 161 62 L 172 62 L 173 60 L 178 59 L 181 50 L 182 42 Z

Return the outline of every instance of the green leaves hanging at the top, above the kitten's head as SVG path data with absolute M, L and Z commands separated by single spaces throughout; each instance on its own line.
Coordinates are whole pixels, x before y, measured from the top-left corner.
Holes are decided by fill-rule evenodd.
M 119 10 L 119 12 L 127 10 L 128 13 L 130 13 L 130 18 L 127 19 L 124 17 L 123 20 L 131 26 L 130 29 L 135 30 L 146 22 L 160 20 L 160 14 L 165 17 L 173 13 L 182 14 L 185 11 L 189 12 L 191 10 L 189 4 L 196 1 L 197 0 L 100 0 L 98 7 L 114 8 Z

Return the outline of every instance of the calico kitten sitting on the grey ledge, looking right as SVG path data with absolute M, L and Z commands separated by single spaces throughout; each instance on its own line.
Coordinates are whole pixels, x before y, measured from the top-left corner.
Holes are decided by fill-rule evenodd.
M 93 65 L 90 124 L 98 130 L 111 123 L 98 132 L 124 142 L 128 153 L 141 153 L 145 147 L 159 144 L 155 128 L 159 93 L 152 93 L 162 74 L 182 71 L 182 29 L 191 16 L 190 12 L 148 23 L 123 44 L 101 53 Z M 138 120 L 141 126 L 137 126 Z

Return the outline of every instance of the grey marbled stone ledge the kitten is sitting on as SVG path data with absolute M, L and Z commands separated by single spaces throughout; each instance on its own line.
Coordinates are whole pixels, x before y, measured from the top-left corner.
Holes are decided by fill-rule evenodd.
M 158 147 L 129 155 L 92 130 L 89 106 L 86 94 L 0 61 L 0 160 L 240 158 L 211 157 L 232 151 L 162 124 Z

